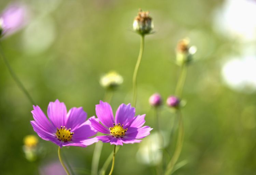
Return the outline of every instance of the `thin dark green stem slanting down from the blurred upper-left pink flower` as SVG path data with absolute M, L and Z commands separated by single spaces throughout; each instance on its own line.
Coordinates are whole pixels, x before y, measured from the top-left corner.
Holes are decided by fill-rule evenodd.
M 5 54 L 2 50 L 2 46 L 0 43 L 0 53 L 1 56 L 4 60 L 4 63 L 6 65 L 6 67 L 8 68 L 13 80 L 15 81 L 15 83 L 17 84 L 17 86 L 20 88 L 20 90 L 22 90 L 24 92 L 24 94 L 26 95 L 26 97 L 28 98 L 28 100 L 32 103 L 32 105 L 35 105 L 34 100 L 32 99 L 32 97 L 30 96 L 30 94 L 28 93 L 27 89 L 24 87 L 24 85 L 22 84 L 22 82 L 19 80 L 18 76 L 15 74 L 15 72 L 13 71 L 11 65 L 8 62 L 8 59 L 5 57 Z

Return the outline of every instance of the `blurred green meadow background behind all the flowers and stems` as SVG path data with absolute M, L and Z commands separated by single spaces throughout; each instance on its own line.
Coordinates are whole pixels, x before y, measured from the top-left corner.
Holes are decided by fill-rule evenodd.
M 0 10 L 10 2 L 2 0 Z M 221 27 L 216 24 L 216 13 L 223 10 L 226 1 L 23 2 L 30 7 L 30 22 L 22 31 L 4 38 L 2 45 L 11 66 L 44 112 L 50 101 L 59 99 L 68 109 L 82 106 L 88 116 L 96 115 L 95 105 L 105 93 L 99 85 L 99 78 L 110 70 L 124 77 L 123 85 L 113 95 L 113 110 L 116 111 L 121 103 L 131 102 L 132 73 L 140 45 L 139 35 L 132 32 L 132 22 L 138 8 L 142 8 L 150 11 L 156 32 L 145 38 L 138 73 L 136 113 L 146 113 L 146 125 L 155 127 L 154 111 L 148 104 L 150 95 L 159 92 L 166 100 L 174 93 L 179 75 L 179 67 L 175 65 L 177 41 L 189 37 L 191 45 L 198 50 L 196 61 L 188 68 L 183 91 L 183 98 L 187 101 L 183 109 L 185 140 L 179 161 L 186 160 L 187 164 L 174 174 L 256 174 L 254 86 L 230 88 L 222 76 L 223 65 L 230 56 L 242 57 L 244 49 L 255 49 L 255 38 L 248 41 L 232 37 L 230 32 L 219 32 Z M 255 59 L 255 52 L 252 55 Z M 256 74 L 253 77 L 256 80 Z M 38 174 L 40 167 L 58 160 L 57 145 L 42 139 L 39 143 L 43 149 L 40 159 L 35 162 L 26 160 L 23 138 L 35 134 L 29 122 L 33 120 L 31 110 L 32 105 L 18 89 L 1 59 L 2 175 Z M 161 130 L 168 133 L 171 126 L 176 128 L 175 115 L 167 107 L 162 108 L 160 118 Z M 176 131 L 172 136 L 171 153 Z M 154 165 L 143 164 L 137 159 L 140 145 L 126 144 L 120 149 L 114 174 L 155 174 Z M 76 174 L 90 170 L 94 146 L 62 149 Z M 113 145 L 104 144 L 99 167 L 112 149 Z

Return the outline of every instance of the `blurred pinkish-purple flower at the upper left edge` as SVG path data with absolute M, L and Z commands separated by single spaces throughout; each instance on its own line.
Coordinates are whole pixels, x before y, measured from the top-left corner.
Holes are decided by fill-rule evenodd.
M 28 8 L 24 4 L 14 3 L 5 8 L 0 15 L 2 34 L 10 35 L 21 28 L 28 21 Z

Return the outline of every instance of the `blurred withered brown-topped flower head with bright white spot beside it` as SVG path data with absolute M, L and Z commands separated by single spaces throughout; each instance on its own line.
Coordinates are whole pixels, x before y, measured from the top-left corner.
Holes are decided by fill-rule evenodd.
M 188 64 L 196 53 L 196 47 L 189 47 L 189 39 L 182 39 L 178 42 L 176 48 L 176 62 L 179 66 Z

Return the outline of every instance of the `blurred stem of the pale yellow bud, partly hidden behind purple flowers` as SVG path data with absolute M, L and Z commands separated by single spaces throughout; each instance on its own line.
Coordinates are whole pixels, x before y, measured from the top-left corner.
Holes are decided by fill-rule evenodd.
M 106 90 L 104 95 L 104 102 L 110 103 L 113 97 L 113 90 Z M 101 141 L 95 144 L 94 152 L 93 152 L 93 159 L 91 161 L 91 175 L 98 174 L 98 167 L 100 161 L 100 155 L 102 151 L 103 143 Z

